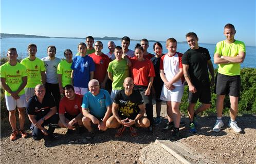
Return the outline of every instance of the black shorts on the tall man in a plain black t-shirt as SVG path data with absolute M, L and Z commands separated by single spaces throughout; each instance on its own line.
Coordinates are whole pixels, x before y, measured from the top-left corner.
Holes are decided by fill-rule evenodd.
M 211 104 L 210 86 L 196 87 L 196 93 L 189 92 L 189 103 L 195 104 L 198 99 L 200 103 Z

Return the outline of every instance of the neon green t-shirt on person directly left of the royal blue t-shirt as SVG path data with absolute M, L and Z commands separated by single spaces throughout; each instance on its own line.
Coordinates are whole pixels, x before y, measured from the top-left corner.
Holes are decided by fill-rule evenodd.
M 61 60 L 61 62 L 58 65 L 57 73 L 61 74 L 62 87 L 71 84 L 71 65 L 72 62 L 68 63 L 66 60 Z

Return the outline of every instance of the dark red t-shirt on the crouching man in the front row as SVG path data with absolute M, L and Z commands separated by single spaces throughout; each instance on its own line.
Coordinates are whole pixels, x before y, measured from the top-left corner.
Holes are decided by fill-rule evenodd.
M 67 97 L 63 97 L 60 101 L 59 113 L 75 116 L 82 112 L 83 96 L 75 94 L 74 100 L 69 100 Z

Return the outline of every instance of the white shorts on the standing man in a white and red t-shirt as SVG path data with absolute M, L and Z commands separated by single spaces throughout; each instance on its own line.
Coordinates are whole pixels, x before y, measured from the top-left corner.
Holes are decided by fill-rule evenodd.
M 174 101 L 174 102 L 181 103 L 183 92 L 184 92 L 184 86 L 175 86 L 173 90 L 168 90 L 163 85 L 160 99 L 164 101 Z

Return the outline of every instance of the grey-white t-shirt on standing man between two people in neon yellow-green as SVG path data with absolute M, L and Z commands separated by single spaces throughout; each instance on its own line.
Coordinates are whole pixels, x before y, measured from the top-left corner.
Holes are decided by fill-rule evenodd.
M 61 62 L 61 59 L 55 57 L 53 60 L 50 60 L 50 57 L 42 58 L 44 61 L 45 69 L 46 69 L 46 82 L 51 84 L 58 84 L 58 75 L 57 68 L 58 64 Z

